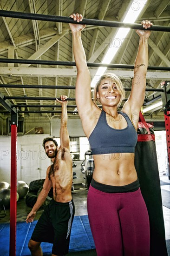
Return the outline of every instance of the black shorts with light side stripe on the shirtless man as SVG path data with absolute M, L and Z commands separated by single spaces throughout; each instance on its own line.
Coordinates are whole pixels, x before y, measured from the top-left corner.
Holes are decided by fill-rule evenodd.
M 31 239 L 35 242 L 53 243 L 52 254 L 68 253 L 74 202 L 56 202 L 53 199 L 40 216 Z

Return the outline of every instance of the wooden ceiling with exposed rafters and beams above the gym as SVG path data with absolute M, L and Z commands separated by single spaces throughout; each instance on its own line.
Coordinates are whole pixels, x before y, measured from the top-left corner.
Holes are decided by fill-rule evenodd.
M 57 16 L 82 13 L 86 19 L 122 22 L 129 4 L 132 4 L 130 0 L 3 0 L 0 8 Z M 149 19 L 154 25 L 170 26 L 169 14 L 170 0 L 148 0 L 135 23 L 140 24 L 142 20 Z M 116 31 L 117 28 L 114 27 L 86 26 L 82 40 L 88 62 L 102 61 Z M 133 65 L 137 48 L 138 35 L 134 29 L 131 29 L 126 39 L 118 46 L 118 52 L 111 63 Z M 149 39 L 149 66 L 169 67 L 169 55 L 170 33 L 152 31 Z M 60 22 L 0 17 L 0 58 L 74 61 L 69 26 Z M 91 74 L 94 74 L 96 68 L 89 67 L 89 69 Z M 108 70 L 119 75 L 124 87 L 131 87 L 132 70 L 111 68 Z M 75 86 L 76 74 L 76 68 L 69 66 L 0 63 L 0 84 L 23 85 L 23 88 L 0 88 L 0 92 L 6 96 L 59 97 L 61 94 L 66 94 L 69 98 L 75 98 L 75 90 L 69 89 L 69 86 Z M 162 81 L 170 81 L 170 73 L 148 70 L 147 88 L 160 88 Z M 25 88 L 26 85 L 65 85 L 68 89 Z M 152 94 L 153 92 L 146 92 L 149 99 Z M 129 92 L 126 92 L 126 98 L 128 95 Z M 55 101 L 13 99 L 10 102 L 39 105 L 38 108 L 26 107 L 25 110 L 59 110 L 55 106 L 41 107 L 45 104 L 55 105 L 57 104 Z M 69 105 L 75 104 L 75 101 L 69 101 Z M 73 112 L 74 107 L 69 110 Z M 0 105 L 0 112 L 6 115 L 5 111 L 6 109 Z M 147 113 L 147 115 L 151 114 L 157 119 L 162 119 L 163 109 L 159 108 Z M 75 118 L 75 115 L 70 114 L 70 118 Z

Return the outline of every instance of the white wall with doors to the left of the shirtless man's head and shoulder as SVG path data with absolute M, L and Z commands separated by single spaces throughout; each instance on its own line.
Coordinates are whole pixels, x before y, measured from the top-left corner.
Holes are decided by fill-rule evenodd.
M 17 181 L 24 180 L 29 183 L 31 180 L 36 180 L 37 177 L 44 179 L 46 177 L 46 169 L 51 164 L 50 159 L 45 155 L 44 148 L 42 147 L 42 141 L 49 135 L 20 135 L 17 136 Z M 24 151 L 22 151 L 22 145 L 24 145 Z M 37 145 L 39 151 L 35 151 L 33 146 Z M 27 150 L 26 150 L 27 147 Z M 39 162 L 39 170 L 36 173 L 32 172 L 32 161 Z M 22 175 L 22 164 L 26 163 L 28 170 L 25 177 Z M 35 162 L 34 162 L 35 163 Z M 29 170 L 30 165 L 30 170 Z M 0 181 L 10 183 L 11 173 L 11 136 L 0 136 Z M 29 175 L 31 173 L 31 175 Z M 29 177 L 29 179 L 28 179 Z

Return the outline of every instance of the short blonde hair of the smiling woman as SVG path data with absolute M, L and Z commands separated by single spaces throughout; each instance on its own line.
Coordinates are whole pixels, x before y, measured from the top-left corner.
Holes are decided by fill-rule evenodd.
M 117 108 L 119 108 L 122 101 L 125 98 L 125 91 L 124 91 L 123 84 L 122 84 L 121 80 L 119 79 L 119 77 L 116 74 L 113 74 L 113 73 L 105 73 L 100 77 L 99 81 L 97 82 L 97 84 L 94 88 L 94 93 L 93 93 L 94 103 L 96 106 L 98 106 L 97 103 L 101 104 L 101 102 L 97 98 L 98 88 L 101 84 L 101 81 L 103 79 L 107 79 L 107 78 L 111 79 L 111 81 L 113 81 L 118 87 L 118 90 L 120 92 L 120 101 L 118 102 Z

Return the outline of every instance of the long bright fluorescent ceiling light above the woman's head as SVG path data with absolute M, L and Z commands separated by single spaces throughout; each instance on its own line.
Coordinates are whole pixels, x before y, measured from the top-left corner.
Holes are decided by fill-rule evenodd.
M 122 22 L 124 23 L 134 23 L 137 20 L 137 17 L 141 13 L 142 9 L 144 8 L 147 0 L 133 0 L 130 4 L 129 10 Z M 101 63 L 109 64 L 111 60 L 117 53 L 119 47 L 125 40 L 130 28 L 118 28 L 116 35 L 111 40 L 111 44 L 109 45 L 108 51 L 106 52 L 103 60 Z M 105 73 L 107 67 L 99 67 L 97 73 L 95 74 L 91 86 L 95 86 L 100 76 Z

